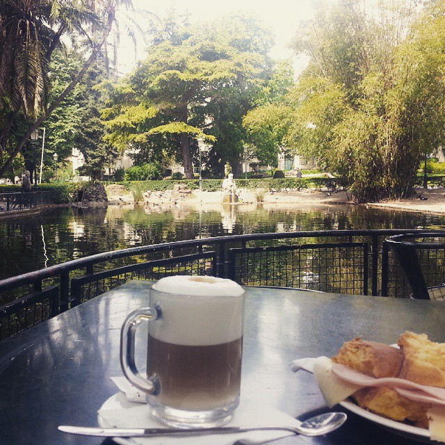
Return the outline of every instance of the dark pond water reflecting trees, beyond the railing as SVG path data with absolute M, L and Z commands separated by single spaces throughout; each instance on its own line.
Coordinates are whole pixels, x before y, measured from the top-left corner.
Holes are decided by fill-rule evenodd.
M 0 220 L 0 279 L 99 252 L 211 236 L 444 227 L 445 216 L 357 205 L 45 209 L 40 214 Z

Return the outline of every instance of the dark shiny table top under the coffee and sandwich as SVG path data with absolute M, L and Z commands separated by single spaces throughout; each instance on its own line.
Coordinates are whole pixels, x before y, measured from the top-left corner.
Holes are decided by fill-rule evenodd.
M 110 377 L 122 375 L 122 321 L 133 309 L 147 306 L 148 285 L 129 282 L 0 343 L 0 444 L 113 443 L 67 435 L 57 427 L 97 425 L 97 410 L 117 392 Z M 334 355 L 343 341 L 357 336 L 394 343 L 405 330 L 445 341 L 444 302 L 246 290 L 241 397 L 254 395 L 299 419 L 327 408 L 314 377 L 292 373 L 291 360 Z M 143 328 L 139 330 L 143 338 Z M 291 437 L 277 443 L 415 442 L 350 414 L 345 425 L 324 437 Z

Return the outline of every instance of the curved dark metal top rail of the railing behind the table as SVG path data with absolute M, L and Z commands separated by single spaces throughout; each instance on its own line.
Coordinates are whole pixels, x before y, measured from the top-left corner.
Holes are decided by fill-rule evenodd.
M 39 280 L 45 280 L 49 277 L 60 275 L 60 273 L 69 273 L 71 270 L 118 259 L 122 257 L 131 257 L 132 255 L 145 254 L 147 252 L 169 250 L 171 248 L 202 246 L 208 244 L 224 244 L 236 242 L 260 241 L 261 239 L 284 239 L 284 238 L 308 238 L 311 236 L 385 236 L 394 234 L 416 234 L 416 232 L 424 232 L 425 229 L 357 229 L 357 230 L 315 230 L 315 231 L 299 231 L 299 232 L 280 232 L 267 234 L 245 234 L 245 235 L 226 235 L 214 236 L 213 238 L 200 238 L 184 241 L 173 241 L 171 243 L 159 243 L 121 250 L 112 250 L 102 252 L 88 257 L 72 259 L 62 264 L 55 264 L 48 268 L 34 270 L 32 272 L 9 277 L 0 280 L 0 292 L 14 289 L 18 286 L 33 284 Z M 430 231 L 431 233 L 433 231 Z

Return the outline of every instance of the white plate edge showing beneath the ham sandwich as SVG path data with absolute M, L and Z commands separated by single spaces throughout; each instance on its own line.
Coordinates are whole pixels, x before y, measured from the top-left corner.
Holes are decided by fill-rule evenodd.
M 355 403 L 350 401 L 340 402 L 341 405 L 346 410 L 357 414 L 364 419 L 370 420 L 371 422 L 377 423 L 379 426 L 394 432 L 394 434 L 406 437 L 407 439 L 413 439 L 420 442 L 431 442 L 430 441 L 430 431 L 425 428 L 418 428 L 416 426 L 406 425 L 395 420 L 387 419 L 386 417 L 379 416 L 378 414 L 373 414 L 363 408 L 355 405 Z M 437 442 L 435 442 L 437 443 Z

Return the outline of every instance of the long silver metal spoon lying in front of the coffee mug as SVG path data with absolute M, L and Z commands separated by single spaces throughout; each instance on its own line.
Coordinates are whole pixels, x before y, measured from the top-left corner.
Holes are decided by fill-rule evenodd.
M 217 426 L 214 428 L 88 428 L 83 426 L 59 426 L 58 429 L 71 434 L 101 437 L 153 437 L 165 435 L 199 436 L 208 434 L 228 434 L 246 431 L 290 431 L 303 436 L 321 436 L 337 430 L 346 421 L 343 412 L 327 412 L 307 419 L 300 426 Z

